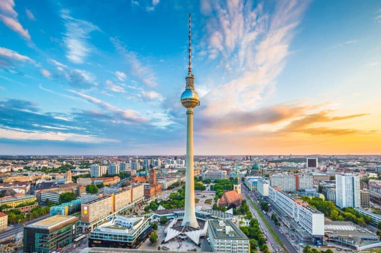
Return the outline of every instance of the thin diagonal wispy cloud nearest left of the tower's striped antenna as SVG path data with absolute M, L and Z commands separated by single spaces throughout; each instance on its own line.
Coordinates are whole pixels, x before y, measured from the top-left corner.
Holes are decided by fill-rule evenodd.
M 144 65 L 137 53 L 127 50 L 123 43 L 117 38 L 110 38 L 117 51 L 125 58 L 125 61 L 130 69 L 130 74 L 138 78 L 144 85 L 155 87 L 157 85 L 156 77 L 152 69 Z

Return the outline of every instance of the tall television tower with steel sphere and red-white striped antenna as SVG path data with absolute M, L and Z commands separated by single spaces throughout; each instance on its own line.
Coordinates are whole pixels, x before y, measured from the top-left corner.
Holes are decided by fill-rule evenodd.
M 189 224 L 198 227 L 194 205 L 194 165 L 193 165 L 193 108 L 200 105 L 200 99 L 194 90 L 191 64 L 191 16 L 189 14 L 189 49 L 188 49 L 188 75 L 185 77 L 185 91 L 181 94 L 181 104 L 187 108 L 187 157 L 185 168 L 185 212 L 181 225 Z

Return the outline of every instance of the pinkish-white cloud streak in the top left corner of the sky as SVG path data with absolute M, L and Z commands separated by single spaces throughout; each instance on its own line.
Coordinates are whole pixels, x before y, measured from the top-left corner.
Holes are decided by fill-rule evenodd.
M 22 37 L 30 40 L 30 35 L 27 29 L 23 26 L 17 19 L 18 13 L 14 10 L 15 2 L 13 0 L 2 0 L 0 1 L 0 20 L 9 29 L 17 32 Z

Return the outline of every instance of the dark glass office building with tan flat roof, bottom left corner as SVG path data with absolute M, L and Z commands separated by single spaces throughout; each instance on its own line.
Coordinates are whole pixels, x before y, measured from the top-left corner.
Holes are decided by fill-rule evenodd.
M 24 227 L 24 252 L 49 253 L 72 242 L 79 234 L 79 219 L 55 215 Z

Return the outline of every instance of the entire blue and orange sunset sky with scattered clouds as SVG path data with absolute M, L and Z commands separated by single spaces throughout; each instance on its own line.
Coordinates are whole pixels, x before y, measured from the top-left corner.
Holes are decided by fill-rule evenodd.
M 0 154 L 380 153 L 379 1 L 0 2 Z

